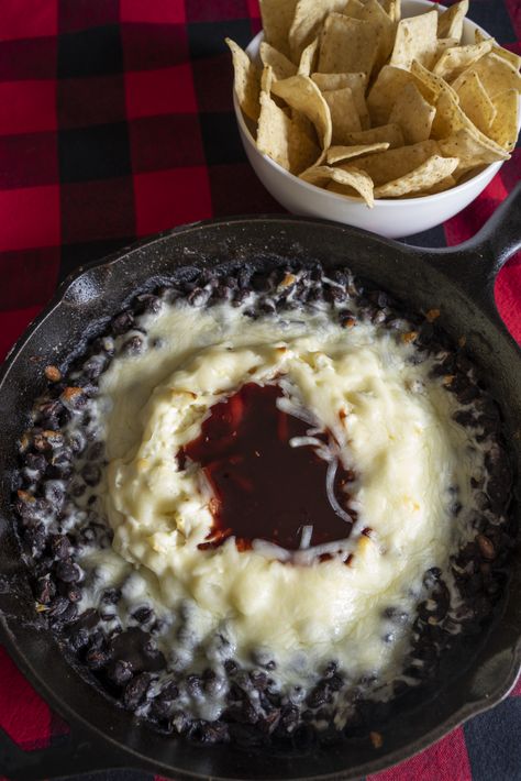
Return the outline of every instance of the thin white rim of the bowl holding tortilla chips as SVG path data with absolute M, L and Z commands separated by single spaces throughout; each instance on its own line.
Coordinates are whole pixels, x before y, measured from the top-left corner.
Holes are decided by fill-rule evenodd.
M 441 10 L 447 10 L 446 6 L 442 6 L 440 3 L 432 2 L 432 0 L 407 0 L 409 3 L 418 7 L 418 8 L 425 8 L 425 9 L 431 9 L 433 11 L 441 11 Z M 407 16 L 403 16 L 403 19 L 407 19 Z M 476 30 L 479 30 L 479 32 L 484 33 L 486 37 L 494 38 L 490 33 L 488 33 L 484 28 L 481 28 L 479 24 L 474 22 L 472 19 L 465 16 L 463 20 L 464 28 L 466 25 L 470 26 L 470 31 L 474 32 Z M 255 54 L 258 53 L 259 46 L 262 41 L 264 40 L 264 30 L 260 30 L 254 37 L 248 42 L 248 44 L 245 47 L 245 52 L 248 56 L 253 52 Z M 299 176 L 296 176 L 295 174 L 291 174 L 289 170 L 286 170 L 286 168 L 282 168 L 279 163 L 274 161 L 269 155 L 265 154 L 264 152 L 259 152 L 257 148 L 257 145 L 255 143 L 255 140 L 250 131 L 250 128 L 246 124 L 243 111 L 241 107 L 239 106 L 239 100 L 235 92 L 235 89 L 233 88 L 232 85 L 232 97 L 233 97 L 233 108 L 235 112 L 235 118 L 241 131 L 241 135 L 243 139 L 247 141 L 250 144 L 252 151 L 258 155 L 259 158 L 264 160 L 274 170 L 276 170 L 278 174 L 282 175 L 284 178 L 286 178 L 288 182 L 293 182 L 295 184 L 300 185 L 303 187 L 304 190 L 308 190 L 311 195 L 317 195 L 317 193 L 320 193 L 321 196 L 319 197 L 325 197 L 325 200 L 332 200 L 335 201 L 336 204 L 346 201 L 346 204 L 350 207 L 355 207 L 359 209 L 368 209 L 369 207 L 367 204 L 365 204 L 362 199 L 355 198 L 354 196 L 344 196 L 340 195 L 339 193 L 332 193 L 331 190 L 326 190 L 322 187 L 318 187 L 317 185 L 312 185 L 309 182 L 304 182 L 301 179 Z M 519 128 L 521 125 L 521 106 L 520 106 L 520 111 L 518 116 L 518 132 Z M 466 179 L 466 182 L 462 182 L 461 184 L 455 185 L 454 187 L 450 187 L 446 190 L 443 190 L 442 193 L 433 193 L 431 195 L 426 196 L 417 196 L 415 198 L 376 198 L 375 204 L 374 204 L 374 209 L 376 209 L 379 206 L 383 206 L 384 208 L 388 209 L 398 209 L 403 206 L 409 206 L 412 204 L 431 204 L 434 205 L 435 202 L 442 202 L 443 200 L 448 200 L 451 197 L 454 197 L 456 194 L 457 195 L 464 195 L 470 189 L 474 189 L 476 187 L 479 187 L 481 184 L 481 179 L 486 179 L 487 177 L 490 177 L 490 173 L 492 174 L 490 178 L 496 176 L 500 167 L 502 166 L 503 163 L 507 161 L 496 161 L 494 163 L 489 163 L 485 168 L 479 170 L 475 176 L 472 176 L 469 179 Z M 485 189 L 488 183 L 485 183 L 481 189 L 476 194 L 479 195 L 479 193 Z

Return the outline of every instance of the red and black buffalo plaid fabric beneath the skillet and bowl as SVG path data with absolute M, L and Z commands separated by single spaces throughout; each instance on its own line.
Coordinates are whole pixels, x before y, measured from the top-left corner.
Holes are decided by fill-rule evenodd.
M 0 8 L 2 354 L 78 264 L 182 222 L 281 210 L 241 147 L 223 44 L 229 35 L 245 45 L 259 30 L 256 0 L 2 0 Z M 521 53 L 520 0 L 472 0 L 469 15 Z M 408 243 L 473 235 L 520 178 L 520 154 L 518 146 L 465 211 Z M 500 274 L 497 300 L 519 340 L 520 299 L 518 257 Z M 521 779 L 516 694 L 521 688 L 372 781 Z M 67 733 L 2 649 L 0 725 L 27 750 Z

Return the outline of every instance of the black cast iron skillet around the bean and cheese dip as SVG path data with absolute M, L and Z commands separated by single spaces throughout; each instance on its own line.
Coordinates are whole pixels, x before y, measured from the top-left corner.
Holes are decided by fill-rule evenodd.
M 520 352 L 494 302 L 494 282 L 521 245 L 521 186 L 473 240 L 452 250 L 409 248 L 335 223 L 295 217 L 236 217 L 177 228 L 124 250 L 69 278 L 11 352 L 0 377 L 0 615 L 2 637 L 22 673 L 70 725 L 58 748 L 25 755 L 2 736 L 0 766 L 13 779 L 57 778 L 133 767 L 175 779 L 354 779 L 376 772 L 429 746 L 466 718 L 498 703 L 512 688 L 521 664 L 521 566 L 513 568 L 503 615 L 494 631 L 476 638 L 473 653 L 459 657 L 437 694 L 420 710 L 398 712 L 376 750 L 369 740 L 340 744 L 292 756 L 204 747 L 164 737 L 115 710 L 58 652 L 38 629 L 25 571 L 20 562 L 10 508 L 9 471 L 14 442 L 42 388 L 42 367 L 57 363 L 85 334 L 87 323 L 114 314 L 123 299 L 151 276 L 168 276 L 180 265 L 274 255 L 315 257 L 325 267 L 348 265 L 414 309 L 439 308 L 456 339 L 480 365 L 501 405 L 505 436 L 521 470 Z M 279 261 L 280 262 L 280 261 Z M 514 510 L 518 512 L 518 510 Z M 521 557 L 520 552 L 516 553 Z

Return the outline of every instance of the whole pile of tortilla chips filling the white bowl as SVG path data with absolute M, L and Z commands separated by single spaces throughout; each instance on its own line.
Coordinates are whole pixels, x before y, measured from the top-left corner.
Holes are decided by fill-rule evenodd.
M 521 57 L 479 33 L 462 45 L 467 10 L 401 19 L 400 0 L 260 0 L 260 62 L 226 38 L 258 150 L 368 206 L 508 160 Z

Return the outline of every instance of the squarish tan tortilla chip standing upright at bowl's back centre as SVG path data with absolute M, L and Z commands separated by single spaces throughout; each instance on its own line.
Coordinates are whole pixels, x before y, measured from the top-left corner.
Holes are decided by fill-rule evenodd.
M 330 13 L 322 29 L 319 70 L 325 74 L 363 73 L 375 64 L 378 33 L 369 22 Z

